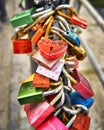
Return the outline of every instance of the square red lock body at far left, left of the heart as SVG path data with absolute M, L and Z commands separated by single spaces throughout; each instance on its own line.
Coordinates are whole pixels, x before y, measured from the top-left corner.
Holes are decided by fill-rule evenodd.
M 32 43 L 28 39 L 13 39 L 13 52 L 14 54 L 25 54 L 32 52 Z

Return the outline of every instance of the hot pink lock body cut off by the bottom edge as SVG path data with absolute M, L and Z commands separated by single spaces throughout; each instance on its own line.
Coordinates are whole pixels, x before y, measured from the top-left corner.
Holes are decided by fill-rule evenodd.
M 68 130 L 68 128 L 55 116 L 50 116 L 37 130 Z

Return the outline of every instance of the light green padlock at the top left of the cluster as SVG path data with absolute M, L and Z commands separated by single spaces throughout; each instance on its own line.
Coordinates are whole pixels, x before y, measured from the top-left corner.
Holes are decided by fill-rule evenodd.
M 22 26 L 25 24 L 32 23 L 34 20 L 32 18 L 32 14 L 34 14 L 35 9 L 31 8 L 25 11 L 22 11 L 21 13 L 15 14 L 10 19 L 10 22 L 13 27 Z

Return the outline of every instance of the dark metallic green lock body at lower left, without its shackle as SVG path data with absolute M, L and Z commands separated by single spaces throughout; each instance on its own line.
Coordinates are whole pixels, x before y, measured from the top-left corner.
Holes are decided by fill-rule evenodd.
M 23 83 L 18 93 L 18 101 L 21 105 L 44 100 L 44 89 L 34 88 L 32 82 Z

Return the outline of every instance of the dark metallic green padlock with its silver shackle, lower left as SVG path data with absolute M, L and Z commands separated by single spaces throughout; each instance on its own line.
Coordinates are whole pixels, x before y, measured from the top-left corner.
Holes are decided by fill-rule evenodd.
M 41 102 L 45 100 L 46 96 L 51 94 L 56 94 L 62 89 L 62 84 L 60 84 L 57 88 L 44 91 L 42 88 L 35 88 L 32 85 L 32 82 L 26 82 L 21 85 L 21 88 L 18 93 L 18 101 L 21 105 L 32 102 Z

